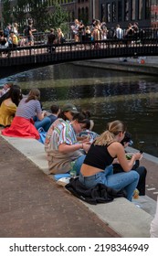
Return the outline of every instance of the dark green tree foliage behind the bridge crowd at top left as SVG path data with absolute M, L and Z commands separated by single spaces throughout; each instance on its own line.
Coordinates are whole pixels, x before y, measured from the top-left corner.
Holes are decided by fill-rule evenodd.
M 47 0 L 16 0 L 16 5 L 13 7 L 10 0 L 1 1 L 4 6 L 4 26 L 16 22 L 19 32 L 22 32 L 26 27 L 27 19 L 31 17 L 37 31 L 49 30 L 50 27 L 60 27 L 65 32 L 68 30 L 68 12 L 58 4 L 58 1 L 55 1 L 51 12 L 47 8 Z

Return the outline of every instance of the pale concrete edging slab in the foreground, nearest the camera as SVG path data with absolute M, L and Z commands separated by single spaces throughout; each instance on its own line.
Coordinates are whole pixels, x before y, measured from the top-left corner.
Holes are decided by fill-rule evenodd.
M 108 204 L 85 205 L 123 238 L 149 238 L 153 217 L 126 198 Z

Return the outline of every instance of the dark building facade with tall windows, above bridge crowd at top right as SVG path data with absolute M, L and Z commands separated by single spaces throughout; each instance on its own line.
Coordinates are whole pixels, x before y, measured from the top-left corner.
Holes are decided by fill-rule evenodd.
M 127 27 L 133 22 L 139 27 L 158 27 L 158 0 L 100 0 L 99 16 L 107 27 Z

